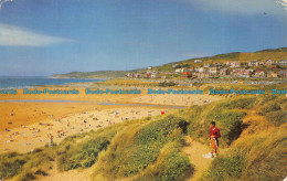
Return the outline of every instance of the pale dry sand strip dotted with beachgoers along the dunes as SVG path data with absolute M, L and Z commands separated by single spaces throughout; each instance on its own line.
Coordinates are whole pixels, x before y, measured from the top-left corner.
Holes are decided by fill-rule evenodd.
M 7 151 L 28 152 L 49 143 L 47 135 L 54 136 L 55 143 L 65 137 L 108 127 L 125 120 L 160 115 L 167 109 L 146 107 L 125 107 L 82 111 L 62 118 L 46 119 L 40 123 L 13 128 L 0 132 L 0 153 Z

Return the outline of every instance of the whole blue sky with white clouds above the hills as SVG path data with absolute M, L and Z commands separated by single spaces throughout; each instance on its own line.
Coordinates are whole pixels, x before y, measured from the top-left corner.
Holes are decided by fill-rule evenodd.
M 287 0 L 0 0 L 0 75 L 128 71 L 287 46 Z

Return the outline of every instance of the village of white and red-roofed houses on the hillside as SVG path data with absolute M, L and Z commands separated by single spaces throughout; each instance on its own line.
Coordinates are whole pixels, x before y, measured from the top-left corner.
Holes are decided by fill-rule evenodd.
M 148 67 L 145 71 L 129 72 L 128 78 L 286 78 L 287 60 L 266 60 L 249 62 L 216 62 L 204 63 L 201 60 L 194 60 L 190 64 L 173 63 L 169 71 L 159 71 L 157 67 Z

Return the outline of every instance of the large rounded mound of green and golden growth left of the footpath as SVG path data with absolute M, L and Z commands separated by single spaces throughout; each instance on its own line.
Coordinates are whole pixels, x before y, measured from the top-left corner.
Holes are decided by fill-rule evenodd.
M 97 162 L 95 177 L 103 174 L 113 180 L 145 171 L 158 160 L 166 145 L 172 141 L 182 142 L 182 132 L 187 129 L 184 119 L 174 116 L 134 126 L 127 127 L 114 138 L 109 149 L 102 155 L 103 159 L 100 157 Z

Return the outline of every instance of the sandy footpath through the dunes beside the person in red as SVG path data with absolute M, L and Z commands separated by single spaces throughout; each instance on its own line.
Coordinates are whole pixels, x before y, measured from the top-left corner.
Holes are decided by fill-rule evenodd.
M 188 181 L 196 181 L 201 174 L 209 168 L 212 159 L 203 158 L 203 155 L 210 152 L 209 147 L 192 140 L 190 137 L 185 137 L 187 146 L 183 148 L 183 152 L 189 157 L 190 162 L 195 167 L 194 174 L 187 179 Z

